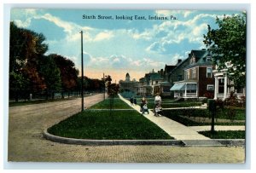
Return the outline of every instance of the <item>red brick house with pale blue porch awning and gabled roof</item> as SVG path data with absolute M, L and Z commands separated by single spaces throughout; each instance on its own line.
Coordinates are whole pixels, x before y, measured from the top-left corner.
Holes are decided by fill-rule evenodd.
M 211 54 L 205 49 L 191 50 L 186 62 L 188 66 L 183 67 L 183 80 L 178 80 L 182 78 L 179 76 L 177 82 L 173 81 L 171 91 L 174 92 L 174 97 L 187 99 L 213 96 L 214 78 Z

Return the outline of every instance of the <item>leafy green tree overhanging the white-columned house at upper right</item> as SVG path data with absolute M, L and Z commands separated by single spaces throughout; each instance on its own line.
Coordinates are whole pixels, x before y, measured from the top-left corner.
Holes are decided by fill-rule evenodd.
M 216 18 L 218 29 L 208 25 L 204 43 L 212 51 L 213 64 L 218 69 L 227 69 L 235 88 L 246 85 L 246 14 L 224 15 Z M 230 64 L 230 65 L 229 65 Z

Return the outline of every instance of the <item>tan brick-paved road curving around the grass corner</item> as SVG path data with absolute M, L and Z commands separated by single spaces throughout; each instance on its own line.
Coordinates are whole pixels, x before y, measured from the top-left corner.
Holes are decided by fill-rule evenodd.
M 102 95 L 85 98 L 87 107 Z M 81 100 L 9 108 L 9 161 L 243 163 L 244 147 L 80 146 L 45 140 L 44 129 L 80 111 Z

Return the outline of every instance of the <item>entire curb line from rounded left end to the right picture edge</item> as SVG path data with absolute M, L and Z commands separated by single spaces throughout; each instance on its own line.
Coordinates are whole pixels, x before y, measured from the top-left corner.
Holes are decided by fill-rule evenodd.
M 43 136 L 50 141 L 74 145 L 110 146 L 110 145 L 160 145 L 180 147 L 224 147 L 245 146 L 244 139 L 212 139 L 212 140 L 89 140 L 54 136 L 44 130 Z

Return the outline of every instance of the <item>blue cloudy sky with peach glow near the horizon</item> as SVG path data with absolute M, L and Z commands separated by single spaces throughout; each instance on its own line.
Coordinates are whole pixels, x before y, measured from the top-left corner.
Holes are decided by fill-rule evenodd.
M 49 54 L 71 59 L 81 68 L 81 36 L 84 32 L 84 74 L 113 81 L 143 78 L 146 72 L 175 65 L 191 49 L 205 48 L 202 40 L 207 24 L 212 28 L 216 16 L 241 14 L 240 11 L 196 10 L 89 10 L 89 9 L 12 9 L 11 20 L 19 27 L 41 32 Z M 83 15 L 90 19 L 83 19 Z M 98 19 L 98 16 L 108 19 Z M 135 15 L 143 20 L 135 20 Z M 166 20 L 148 20 L 166 17 Z M 95 16 L 96 19 L 93 19 Z M 119 16 L 122 20 L 117 20 Z M 171 19 L 171 16 L 175 17 Z M 132 17 L 132 20 L 131 20 Z

